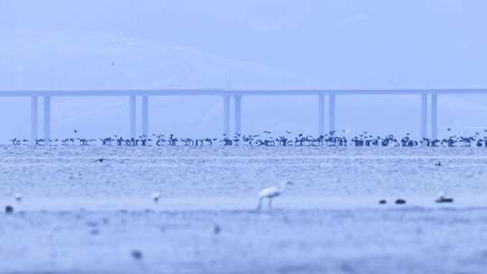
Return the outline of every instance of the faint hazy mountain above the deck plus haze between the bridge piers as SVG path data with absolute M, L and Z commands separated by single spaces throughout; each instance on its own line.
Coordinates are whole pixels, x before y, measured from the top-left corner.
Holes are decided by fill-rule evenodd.
M 1 89 L 227 88 L 230 69 L 234 88 L 313 87 L 307 79 L 264 64 L 105 33 L 23 35 L 8 44 L 2 49 Z M 19 115 L 1 118 L 5 131 L 0 137 L 27 136 L 28 126 L 14 125 L 28 123 L 28 101 L 7 102 L 12 104 L 0 103 L 3 114 Z M 74 128 L 88 136 L 126 134 L 127 103 L 126 98 L 55 99 L 53 134 L 71 136 Z M 485 103 L 478 96 L 440 96 L 440 125 L 464 132 L 482 128 Z M 418 107 L 418 96 L 339 97 L 338 126 L 352 132 L 417 133 Z M 218 135 L 221 113 L 217 97 L 152 98 L 151 128 L 190 136 Z M 317 101 L 308 96 L 245 97 L 243 130 L 316 133 Z

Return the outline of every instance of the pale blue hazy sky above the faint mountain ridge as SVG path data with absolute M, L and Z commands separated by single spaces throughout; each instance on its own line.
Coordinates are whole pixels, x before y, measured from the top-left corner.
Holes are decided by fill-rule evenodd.
M 62 35 L 103 33 L 106 39 L 153 41 L 260 63 L 308 81 L 305 86 L 487 82 L 487 2 L 482 0 L 2 3 L 5 39 L 58 32 L 62 43 Z

